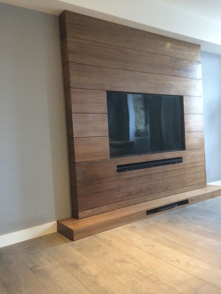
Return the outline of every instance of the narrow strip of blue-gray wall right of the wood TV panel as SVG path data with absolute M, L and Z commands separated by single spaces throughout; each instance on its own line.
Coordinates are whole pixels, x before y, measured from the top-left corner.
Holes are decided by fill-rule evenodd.
M 201 52 L 207 183 L 221 180 L 221 55 Z

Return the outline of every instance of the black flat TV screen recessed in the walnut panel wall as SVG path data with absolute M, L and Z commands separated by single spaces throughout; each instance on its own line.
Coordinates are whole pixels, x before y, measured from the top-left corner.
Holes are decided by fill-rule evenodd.
M 107 91 L 110 156 L 185 150 L 183 97 Z

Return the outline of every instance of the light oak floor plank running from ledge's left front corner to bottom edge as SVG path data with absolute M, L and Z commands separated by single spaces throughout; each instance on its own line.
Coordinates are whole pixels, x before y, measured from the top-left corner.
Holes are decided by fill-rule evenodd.
M 71 241 L 59 233 L 45 235 L 39 239 L 45 250 L 92 293 L 134 293 L 77 250 L 68 246 Z

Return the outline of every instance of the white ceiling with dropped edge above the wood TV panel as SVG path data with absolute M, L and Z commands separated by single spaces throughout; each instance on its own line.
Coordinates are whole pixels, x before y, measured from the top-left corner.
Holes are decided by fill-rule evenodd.
M 197 43 L 221 54 L 221 0 L 0 0 L 59 15 L 70 10 Z

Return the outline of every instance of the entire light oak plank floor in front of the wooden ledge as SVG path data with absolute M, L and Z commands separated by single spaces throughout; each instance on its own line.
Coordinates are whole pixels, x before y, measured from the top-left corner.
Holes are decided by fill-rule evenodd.
M 221 294 L 221 197 L 71 242 L 0 248 L 0 293 Z

